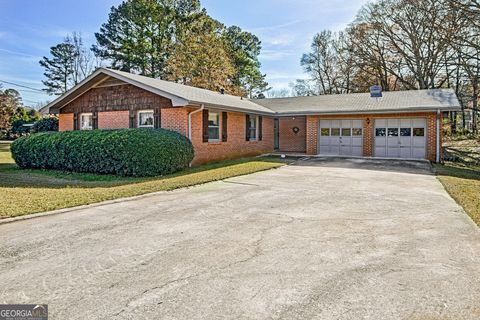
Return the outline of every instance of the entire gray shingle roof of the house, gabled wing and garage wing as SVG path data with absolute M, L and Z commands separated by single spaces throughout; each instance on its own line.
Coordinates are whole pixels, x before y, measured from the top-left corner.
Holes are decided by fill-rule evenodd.
M 384 92 L 383 98 L 378 101 L 370 98 L 369 93 L 249 100 L 129 72 L 99 68 L 43 109 L 58 112 L 59 108 L 98 83 L 98 79 L 108 76 L 171 99 L 173 106 L 203 104 L 206 108 L 265 115 L 446 111 L 460 108 L 455 92 L 451 89 Z

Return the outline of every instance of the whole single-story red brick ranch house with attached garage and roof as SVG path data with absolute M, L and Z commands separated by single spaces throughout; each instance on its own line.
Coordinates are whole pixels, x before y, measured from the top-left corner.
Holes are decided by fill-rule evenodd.
M 459 108 L 450 89 L 249 100 L 105 68 L 45 107 L 60 131 L 177 131 L 194 164 L 274 151 L 438 162 L 442 113 Z

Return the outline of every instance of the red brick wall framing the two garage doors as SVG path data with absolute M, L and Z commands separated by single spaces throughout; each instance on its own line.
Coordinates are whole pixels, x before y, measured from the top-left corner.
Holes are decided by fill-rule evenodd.
M 437 114 L 435 112 L 307 116 L 307 154 L 318 154 L 319 119 L 363 119 L 363 155 L 371 157 L 373 156 L 375 119 L 379 118 L 425 118 L 427 120 L 427 159 L 436 161 Z

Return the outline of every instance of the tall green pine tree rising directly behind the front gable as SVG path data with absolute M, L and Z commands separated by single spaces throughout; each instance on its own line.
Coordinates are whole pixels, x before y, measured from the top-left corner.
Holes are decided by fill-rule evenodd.
M 92 50 L 114 69 L 165 79 L 177 25 L 199 11 L 197 0 L 124 1 L 111 8 Z

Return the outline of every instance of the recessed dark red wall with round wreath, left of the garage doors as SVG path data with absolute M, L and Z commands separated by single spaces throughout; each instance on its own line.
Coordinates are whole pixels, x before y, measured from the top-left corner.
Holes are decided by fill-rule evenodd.
M 306 117 L 279 118 L 279 151 L 305 152 Z M 293 128 L 298 127 L 298 133 Z

